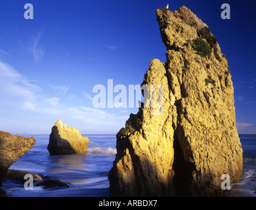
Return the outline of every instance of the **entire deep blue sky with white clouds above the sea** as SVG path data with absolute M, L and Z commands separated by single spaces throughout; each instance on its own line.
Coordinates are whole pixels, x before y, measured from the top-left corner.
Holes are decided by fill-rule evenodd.
M 256 133 L 255 6 L 252 1 L 0 1 L 0 130 L 49 134 L 56 119 L 83 134 L 116 134 L 137 108 L 95 108 L 93 87 L 141 84 L 165 62 L 155 9 L 185 5 L 227 56 L 238 133 Z M 33 4 L 33 20 L 24 5 Z M 221 19 L 229 3 L 231 19 Z

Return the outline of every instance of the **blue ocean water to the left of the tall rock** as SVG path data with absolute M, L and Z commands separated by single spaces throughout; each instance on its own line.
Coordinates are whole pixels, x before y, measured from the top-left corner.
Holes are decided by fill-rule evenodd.
M 45 188 L 33 186 L 25 190 L 24 184 L 4 179 L 0 196 L 43 196 L 43 197 L 85 197 L 109 195 L 108 172 L 113 165 L 116 154 L 116 135 L 85 135 L 90 139 L 87 152 L 50 156 L 47 150 L 49 135 L 33 136 L 36 143 L 9 169 L 39 173 L 49 178 L 68 184 L 70 188 Z

